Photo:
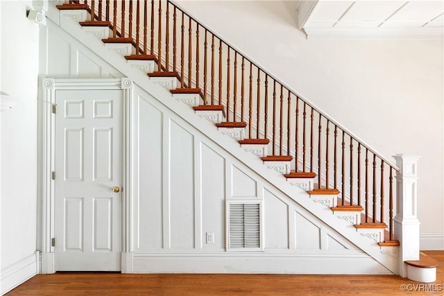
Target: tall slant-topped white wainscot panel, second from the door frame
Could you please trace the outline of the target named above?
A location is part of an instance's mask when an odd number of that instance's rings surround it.
[[[194,248],[194,136],[169,121],[171,248]],[[165,159],[167,161],[167,159]]]

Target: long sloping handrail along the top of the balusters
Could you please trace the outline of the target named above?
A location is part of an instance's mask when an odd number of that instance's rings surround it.
[[[203,28],[207,28],[207,26],[205,26],[203,24],[202,21],[198,21],[198,19],[196,17],[191,17],[191,15],[189,14],[189,12],[187,12],[187,10],[185,10],[184,8],[182,8],[179,4],[177,0],[167,0],[168,2],[172,3],[173,6],[176,6],[180,11],[184,12],[186,15],[188,15],[192,20],[196,21],[197,24],[199,24],[200,26],[203,26]],[[336,121],[335,119],[333,119],[331,116],[327,115],[327,112],[324,112],[320,107],[316,106],[314,103],[312,103],[311,101],[309,101],[308,98],[306,98],[305,96],[301,95],[300,93],[296,92],[295,89],[293,89],[291,86],[289,86],[287,84],[287,82],[282,82],[282,80],[279,80],[278,78],[276,78],[275,76],[273,76],[273,74],[271,74],[271,71],[268,71],[268,69],[266,69],[265,67],[261,67],[259,66],[259,63],[256,62],[253,58],[250,57],[250,55],[241,52],[237,46],[234,46],[232,43],[228,42],[226,38],[221,37],[220,35],[218,35],[217,33],[214,33],[214,31],[212,31],[211,29],[207,28],[207,31],[212,33],[212,35],[218,37],[220,40],[222,40],[223,43],[225,43],[227,46],[229,46],[231,49],[234,49],[234,51],[237,51],[237,53],[239,53],[240,55],[244,56],[249,62],[251,62],[252,64],[255,65],[255,67],[261,69],[264,73],[266,73],[268,75],[268,77],[273,78],[273,80],[278,81],[281,85],[283,85],[285,88],[289,89],[295,96],[297,96],[298,98],[302,99],[302,101],[304,101],[305,103],[307,103],[307,105],[309,105],[309,107],[313,108],[314,110],[316,110],[316,112],[321,113],[323,115],[323,117],[325,117],[325,119],[328,119],[331,123],[333,123],[334,125],[337,125],[339,128],[341,128],[341,130],[343,130],[346,134],[348,134],[350,137],[352,137],[353,139],[355,139],[355,141],[358,141],[359,143],[361,143],[361,145],[365,146],[366,148],[368,148],[368,150],[370,150],[373,154],[377,155],[377,157],[379,157],[380,159],[384,160],[384,162],[386,162],[386,164],[390,165],[392,168],[395,168],[396,171],[399,171],[400,169],[398,168],[398,166],[396,166],[396,164],[387,159],[386,157],[384,157],[384,155],[382,155],[382,153],[379,153],[375,148],[371,147],[368,143],[366,143],[366,141],[364,141],[363,139],[357,137],[357,135],[355,133],[353,133],[352,131],[350,131],[348,128],[345,128],[345,126],[341,125],[341,123],[339,123],[338,121]]]

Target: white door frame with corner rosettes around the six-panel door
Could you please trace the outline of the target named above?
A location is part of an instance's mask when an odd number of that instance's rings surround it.
[[[42,184],[42,273],[54,273],[54,156],[55,156],[55,113],[57,89],[121,89],[122,90],[122,199],[121,199],[121,272],[133,272],[133,247],[131,244],[131,126],[130,114],[132,110],[133,82],[128,78],[94,78],[94,79],[54,79],[43,78],[43,106],[42,106],[42,143],[41,166]]]

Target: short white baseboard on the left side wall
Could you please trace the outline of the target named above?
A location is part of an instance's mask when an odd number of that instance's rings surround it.
[[[38,252],[12,263],[0,270],[0,293],[4,295],[13,288],[37,275]]]

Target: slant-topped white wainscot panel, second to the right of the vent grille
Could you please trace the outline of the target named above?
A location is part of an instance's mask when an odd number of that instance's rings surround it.
[[[321,229],[296,211],[296,249],[321,250]]]

